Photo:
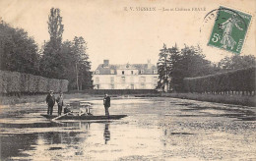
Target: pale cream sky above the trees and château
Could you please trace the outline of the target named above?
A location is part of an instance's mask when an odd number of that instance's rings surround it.
[[[40,47],[49,40],[49,11],[59,8],[63,40],[83,36],[94,71],[104,59],[110,64],[156,64],[163,43],[179,48],[199,44],[213,62],[233,55],[207,45],[215,21],[205,23],[204,18],[220,6],[252,15],[241,55],[256,55],[255,0],[0,0],[0,17],[24,28]],[[146,8],[152,11],[141,11]]]

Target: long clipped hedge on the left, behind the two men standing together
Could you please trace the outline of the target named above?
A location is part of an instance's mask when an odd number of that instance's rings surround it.
[[[31,74],[0,71],[0,93],[45,93],[68,91],[68,80],[47,79]]]

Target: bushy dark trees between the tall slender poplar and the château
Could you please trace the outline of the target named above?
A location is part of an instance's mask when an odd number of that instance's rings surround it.
[[[83,37],[64,41],[61,47],[61,67],[63,78],[69,80],[70,89],[92,88],[91,62],[87,53],[87,42]]]

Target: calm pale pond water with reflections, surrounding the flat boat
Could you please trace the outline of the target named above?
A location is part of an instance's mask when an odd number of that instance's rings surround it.
[[[104,114],[102,100],[89,102],[94,115]],[[256,160],[253,107],[113,98],[109,111],[128,117],[51,122],[40,116],[44,103],[3,108],[1,160]]]

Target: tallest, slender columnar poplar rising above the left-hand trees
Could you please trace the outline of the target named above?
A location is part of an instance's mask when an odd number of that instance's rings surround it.
[[[63,79],[60,76],[63,67],[61,66],[61,44],[64,26],[60,10],[51,8],[48,17],[48,32],[50,40],[45,43],[43,55],[40,61],[41,75],[48,78]]]

